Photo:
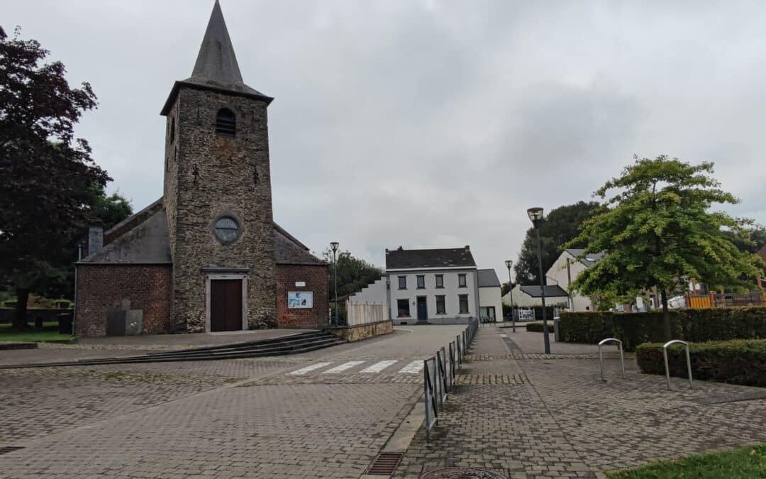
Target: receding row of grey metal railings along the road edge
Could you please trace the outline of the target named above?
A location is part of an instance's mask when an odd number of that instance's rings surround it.
[[[444,411],[447,392],[456,384],[457,372],[466,360],[466,354],[476,331],[479,320],[471,320],[462,333],[450,341],[448,346],[450,363],[447,366],[447,349],[441,346],[434,356],[423,360],[423,400],[426,408],[426,441],[430,441],[430,431],[439,422],[439,411]]]

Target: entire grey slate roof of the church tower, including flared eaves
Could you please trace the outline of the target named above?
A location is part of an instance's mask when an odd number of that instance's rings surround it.
[[[245,97],[254,97],[271,103],[273,98],[267,97],[260,91],[244,84],[242,74],[237,63],[237,55],[234,54],[234,46],[229,38],[224,14],[218,0],[213,5],[210,14],[208,28],[202,38],[202,44],[197,54],[197,61],[191,77],[186,80],[176,81],[170,92],[165,106],[162,107],[162,115],[168,114],[173,105],[178,88],[182,85],[205,90],[217,90],[225,93],[233,93]]]

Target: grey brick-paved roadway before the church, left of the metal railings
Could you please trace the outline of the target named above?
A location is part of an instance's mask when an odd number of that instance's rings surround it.
[[[2,370],[0,447],[24,449],[0,455],[0,477],[359,477],[421,395],[413,363],[464,327],[296,356]]]

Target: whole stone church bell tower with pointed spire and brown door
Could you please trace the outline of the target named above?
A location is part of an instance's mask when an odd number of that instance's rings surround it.
[[[175,330],[277,324],[267,107],[244,84],[216,0],[191,77],[162,115]]]

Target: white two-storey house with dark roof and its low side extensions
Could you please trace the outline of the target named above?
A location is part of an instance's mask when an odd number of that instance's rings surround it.
[[[417,250],[400,246],[387,249],[385,258],[385,276],[349,297],[350,303],[385,303],[394,324],[467,323],[480,311],[487,317],[502,317],[500,282],[494,271],[494,278],[479,274],[469,246]]]

